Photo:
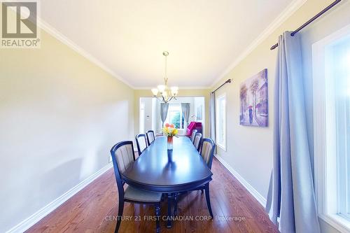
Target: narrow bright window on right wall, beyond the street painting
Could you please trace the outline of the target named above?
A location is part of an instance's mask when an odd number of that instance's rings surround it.
[[[226,150],[226,94],[216,98],[216,144]]]

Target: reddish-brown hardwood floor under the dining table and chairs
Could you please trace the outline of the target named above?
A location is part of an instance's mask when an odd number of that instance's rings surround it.
[[[180,197],[179,220],[170,229],[163,219],[167,203],[162,203],[161,232],[278,232],[262,206],[215,157],[211,170],[214,220],[202,219],[209,218],[204,193],[190,192]],[[118,191],[110,169],[27,232],[114,232],[117,212]],[[125,203],[120,232],[155,232],[155,221],[146,219],[154,215],[153,206]]]

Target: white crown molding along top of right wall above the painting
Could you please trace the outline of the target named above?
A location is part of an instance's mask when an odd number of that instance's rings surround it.
[[[241,54],[237,57],[237,59],[235,59],[219,76],[218,78],[216,78],[214,80],[213,83],[211,83],[211,89],[213,89],[216,85],[216,83],[218,83],[221,79],[223,79],[230,71],[232,71],[232,69],[234,69],[244,58],[246,58],[251,52],[253,52],[253,50],[258,47],[258,45],[260,45],[260,43],[262,43],[262,41],[265,41],[265,39],[272,34],[276,29],[279,28],[279,26],[281,26],[281,24],[283,24],[283,22],[285,22],[288,17],[290,17],[291,15],[293,15],[293,13],[295,13],[295,11],[297,11],[302,5],[304,5],[304,3],[307,0],[294,0],[292,1],[282,12],[281,14],[279,14],[279,16],[276,17],[276,19],[274,21],[272,21],[271,24],[269,24],[269,26],[267,26],[267,28],[262,31],[262,33],[260,34],[260,36],[258,36],[258,38],[256,38],[253,43],[251,43],[250,45],[248,45],[248,47],[246,48],[246,50],[244,50],[244,52],[241,52]]]

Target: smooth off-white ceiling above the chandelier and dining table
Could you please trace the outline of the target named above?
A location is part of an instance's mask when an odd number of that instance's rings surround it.
[[[45,0],[41,20],[134,88],[210,87],[291,0]]]

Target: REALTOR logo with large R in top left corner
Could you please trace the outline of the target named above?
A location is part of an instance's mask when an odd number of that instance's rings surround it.
[[[1,1],[1,48],[39,48],[36,1]]]

